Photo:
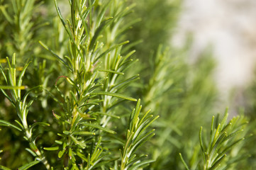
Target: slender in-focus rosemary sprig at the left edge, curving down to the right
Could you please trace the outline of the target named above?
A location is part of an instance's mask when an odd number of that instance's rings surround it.
[[[24,167],[30,167],[33,164],[37,164],[38,162],[43,162],[45,164],[45,167],[47,169],[50,169],[50,165],[48,164],[47,160],[42,154],[42,151],[38,149],[35,145],[35,137],[33,136],[33,128],[36,125],[49,125],[48,123],[33,123],[33,125],[28,125],[27,122],[27,116],[30,106],[33,103],[33,100],[26,101],[28,98],[28,95],[30,94],[30,91],[33,91],[33,89],[38,88],[38,86],[33,87],[24,96],[21,96],[21,90],[26,89],[26,86],[22,86],[22,80],[23,75],[26,72],[26,69],[28,67],[28,64],[26,64],[25,67],[23,67],[23,70],[21,71],[21,74],[18,76],[18,79],[16,79],[16,55],[13,54],[12,62],[9,62],[9,58],[7,57],[7,63],[9,68],[7,69],[6,74],[4,73],[3,67],[0,67],[1,74],[3,75],[6,84],[8,86],[1,86],[1,92],[8,98],[8,100],[11,102],[11,104],[16,108],[16,113],[18,115],[19,120],[15,120],[15,122],[18,124],[13,125],[5,120],[0,120],[0,125],[4,126],[11,126],[12,128],[16,128],[16,130],[23,131],[23,137],[25,140],[29,142],[30,148],[26,148],[28,152],[33,154],[38,160],[34,162],[30,162],[29,164],[26,164],[24,166],[21,166],[21,169],[24,169]],[[9,96],[4,89],[10,89],[11,95]]]

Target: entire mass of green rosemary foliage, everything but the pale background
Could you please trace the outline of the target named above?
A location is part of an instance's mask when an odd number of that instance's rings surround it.
[[[0,169],[256,167],[211,52],[169,44],[181,1],[0,3]]]

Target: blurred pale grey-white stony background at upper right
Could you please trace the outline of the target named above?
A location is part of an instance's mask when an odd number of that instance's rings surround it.
[[[256,65],[256,1],[184,0],[182,10],[172,42],[182,45],[187,33],[192,33],[191,58],[211,45],[223,101],[227,106],[239,101]],[[232,89],[235,91],[230,99]]]

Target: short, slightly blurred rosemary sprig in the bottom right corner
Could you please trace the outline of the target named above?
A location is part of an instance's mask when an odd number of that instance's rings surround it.
[[[214,116],[211,120],[211,131],[206,144],[206,138],[202,135],[203,128],[200,128],[199,142],[201,147],[201,153],[203,160],[194,160],[194,166],[196,169],[233,169],[238,160],[245,159],[244,154],[236,155],[232,152],[238,152],[233,150],[235,145],[245,140],[245,134],[243,129],[247,124],[246,118],[235,117],[226,124],[228,113],[226,112],[221,123],[218,120],[214,120]],[[182,162],[186,169],[190,169],[184,162],[182,154],[180,154]],[[193,168],[195,169],[195,168]]]

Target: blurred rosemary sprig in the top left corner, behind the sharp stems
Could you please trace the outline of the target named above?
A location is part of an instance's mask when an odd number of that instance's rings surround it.
[[[18,62],[27,60],[28,55],[33,55],[36,41],[36,31],[45,23],[38,23],[40,13],[35,13],[41,3],[35,0],[11,0],[9,3],[1,1],[0,11],[4,18],[3,26],[6,27],[5,42],[2,45],[3,55],[11,56],[16,52]],[[11,36],[9,36],[11,35]]]

